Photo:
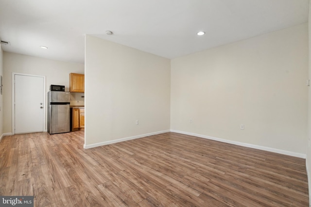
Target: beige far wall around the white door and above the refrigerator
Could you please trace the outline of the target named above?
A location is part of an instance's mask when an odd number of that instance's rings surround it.
[[[3,70],[5,97],[3,102],[5,109],[3,132],[12,133],[12,73],[46,76],[46,92],[50,90],[51,84],[65,85],[66,91],[69,91],[69,73],[84,74],[84,64],[66,63],[4,52]]]

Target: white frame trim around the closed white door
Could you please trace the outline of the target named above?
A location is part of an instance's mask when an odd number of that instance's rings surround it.
[[[12,73],[12,135],[15,135],[15,75],[20,76],[31,76],[31,77],[40,77],[43,78],[43,131],[47,131],[46,129],[46,76],[32,75],[32,74],[24,74],[24,73]]]

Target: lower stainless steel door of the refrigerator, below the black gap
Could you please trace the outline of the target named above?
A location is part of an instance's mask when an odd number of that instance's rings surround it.
[[[59,92],[58,92],[59,93]],[[70,106],[50,105],[49,133],[63,133],[70,131]]]

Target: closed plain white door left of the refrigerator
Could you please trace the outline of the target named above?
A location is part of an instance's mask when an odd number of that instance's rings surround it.
[[[13,74],[15,134],[42,132],[45,125],[45,78]]]

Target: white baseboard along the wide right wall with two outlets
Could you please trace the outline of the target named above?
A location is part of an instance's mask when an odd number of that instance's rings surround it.
[[[255,145],[255,144],[241,143],[241,142],[236,142],[236,141],[231,141],[231,140],[225,140],[225,139],[210,137],[210,136],[206,136],[206,135],[202,135],[202,134],[186,132],[186,131],[178,131],[178,130],[171,129],[171,132],[176,132],[176,133],[180,133],[180,134],[187,134],[187,135],[191,135],[191,136],[195,136],[195,137],[201,137],[201,138],[205,138],[205,139],[209,139],[209,140],[215,140],[215,141],[219,141],[222,143],[230,143],[230,144],[235,144],[235,145],[240,145],[240,146],[246,146],[246,147],[250,147],[250,148],[254,148],[254,149],[260,149],[260,150],[265,150],[265,151],[269,151],[269,152],[275,152],[275,153],[279,153],[279,154],[283,154],[283,155],[289,155],[289,156],[298,157],[298,158],[306,159],[306,157],[307,157],[306,154],[302,154],[302,153],[296,153],[296,152],[286,151],[286,150],[282,150],[282,149],[275,149],[275,148],[260,146],[260,145]]]

